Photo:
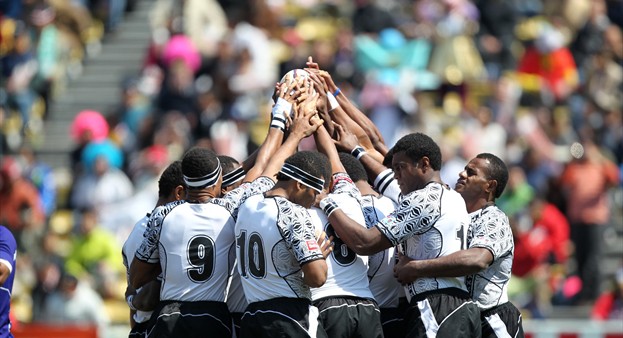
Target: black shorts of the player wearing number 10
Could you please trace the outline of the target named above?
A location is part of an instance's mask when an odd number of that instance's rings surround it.
[[[242,314],[240,337],[326,338],[318,309],[304,298],[273,298],[254,302]]]

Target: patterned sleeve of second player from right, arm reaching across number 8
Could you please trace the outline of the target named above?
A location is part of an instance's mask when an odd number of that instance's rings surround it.
[[[376,224],[392,245],[398,245],[408,238],[425,233],[441,217],[440,184],[429,184],[404,196],[396,211]]]

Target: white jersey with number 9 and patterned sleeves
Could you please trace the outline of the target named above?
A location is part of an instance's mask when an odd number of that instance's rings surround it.
[[[225,301],[238,206],[273,185],[260,177],[207,203],[176,201],[155,209],[136,257],[160,262],[161,301]]]

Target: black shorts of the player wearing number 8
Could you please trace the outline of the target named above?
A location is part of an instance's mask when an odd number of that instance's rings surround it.
[[[327,297],[314,301],[320,322],[331,338],[383,337],[381,311],[376,302],[358,297]]]

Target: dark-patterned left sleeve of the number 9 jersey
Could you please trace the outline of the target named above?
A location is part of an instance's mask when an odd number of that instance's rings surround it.
[[[162,223],[171,210],[182,203],[185,203],[185,201],[171,202],[154,209],[151,216],[149,216],[149,221],[147,221],[147,229],[145,229],[145,233],[143,234],[143,242],[136,250],[135,257],[138,260],[152,264],[160,261],[158,242],[160,241]]]

